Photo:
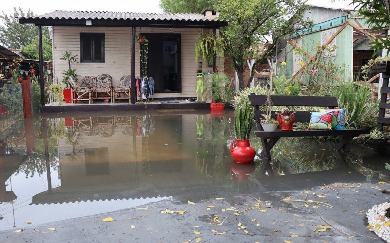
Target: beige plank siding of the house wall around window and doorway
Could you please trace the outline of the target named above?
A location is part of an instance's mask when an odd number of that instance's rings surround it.
[[[195,42],[202,29],[193,28],[136,28],[139,33],[180,33],[181,34],[181,93],[159,93],[155,98],[191,97],[196,96],[196,70],[199,64],[195,61]],[[203,29],[203,32],[213,30]],[[97,76],[109,74],[113,77],[113,85],[118,85],[124,75],[131,72],[131,27],[53,27],[53,72],[54,79],[60,81],[61,73],[67,69],[65,61],[61,60],[65,51],[78,54],[80,57],[80,32],[105,33],[105,62],[104,63],[75,63],[72,68],[77,69],[78,75]],[[219,35],[219,31],[217,32]],[[135,75],[140,75],[139,44],[136,43]],[[224,58],[218,57],[217,64],[220,72],[224,71]],[[212,68],[203,64],[203,71]]]

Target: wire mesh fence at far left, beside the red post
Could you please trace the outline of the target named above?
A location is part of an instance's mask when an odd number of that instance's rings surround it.
[[[0,88],[0,135],[7,135],[13,125],[23,119],[21,84],[5,84]]]

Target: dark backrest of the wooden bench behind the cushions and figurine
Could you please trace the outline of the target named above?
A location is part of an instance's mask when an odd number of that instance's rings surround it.
[[[256,117],[256,123],[261,129],[260,119],[263,111],[260,106],[264,104],[267,96],[265,95],[248,95],[251,104],[254,106],[254,115]],[[337,98],[331,96],[289,96],[289,95],[271,95],[271,100],[274,106],[286,106],[290,107],[290,111],[294,111],[291,107],[326,107],[328,109],[334,109],[338,106]],[[280,112],[280,111],[278,111]],[[276,119],[275,112],[272,112],[272,118]],[[309,111],[297,111],[295,113],[295,122],[309,122],[310,112]]]

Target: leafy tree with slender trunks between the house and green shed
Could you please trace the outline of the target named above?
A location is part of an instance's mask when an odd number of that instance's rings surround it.
[[[225,55],[233,59],[240,89],[244,88],[244,70],[247,58],[257,61],[253,67],[270,54],[279,38],[312,25],[303,19],[306,0],[222,0],[220,17],[228,19],[227,27],[221,29],[225,40]],[[275,33],[273,41],[270,36]],[[264,50],[258,47],[264,46]],[[251,71],[253,77],[254,68]],[[248,86],[250,82],[248,82]]]

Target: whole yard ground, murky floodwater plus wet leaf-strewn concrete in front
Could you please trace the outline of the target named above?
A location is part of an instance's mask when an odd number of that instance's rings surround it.
[[[133,114],[46,114],[1,134],[0,239],[376,241],[362,210],[387,200],[374,188],[389,187],[388,156],[352,145],[345,166],[332,141],[281,139],[263,172],[232,162],[231,111]]]

